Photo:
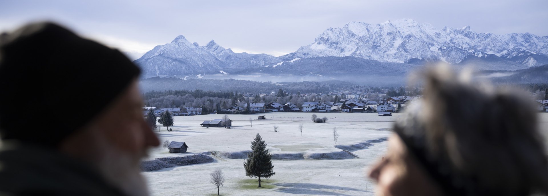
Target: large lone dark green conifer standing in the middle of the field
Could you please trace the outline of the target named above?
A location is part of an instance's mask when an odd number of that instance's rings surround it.
[[[272,155],[269,154],[266,149],[266,143],[262,140],[259,133],[255,136],[255,140],[251,142],[252,152],[247,154],[247,160],[243,163],[244,169],[246,169],[246,176],[258,177],[259,186],[261,187],[261,178],[270,178],[275,175],[273,172],[274,166],[272,165]]]

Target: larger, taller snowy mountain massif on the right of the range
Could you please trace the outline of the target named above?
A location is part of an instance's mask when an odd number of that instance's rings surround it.
[[[512,48],[548,54],[548,36],[476,33],[470,26],[438,30],[428,23],[421,24],[412,19],[386,21],[383,24],[351,22],[342,28],[327,29],[313,43],[280,58],[350,56],[395,63],[406,63],[412,59],[439,59],[458,64],[470,56],[495,54],[500,57]],[[533,60],[518,63],[523,67],[542,64],[535,64]],[[505,69],[504,65],[501,66]]]

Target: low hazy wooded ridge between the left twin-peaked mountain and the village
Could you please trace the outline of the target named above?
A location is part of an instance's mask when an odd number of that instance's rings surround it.
[[[175,77],[151,77],[139,81],[142,92],[167,91],[167,90],[195,90],[222,91],[222,92],[278,92],[283,88],[287,92],[319,93],[330,92],[340,88],[358,87],[345,81],[324,81],[324,82],[256,82],[248,80],[210,80],[210,79],[187,79],[182,80]]]

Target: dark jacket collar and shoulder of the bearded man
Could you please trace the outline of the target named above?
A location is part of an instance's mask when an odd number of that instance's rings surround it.
[[[123,195],[98,170],[39,145],[0,150],[0,195]]]

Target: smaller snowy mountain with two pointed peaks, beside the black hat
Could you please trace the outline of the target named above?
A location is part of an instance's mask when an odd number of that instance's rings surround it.
[[[230,48],[219,46],[213,40],[206,46],[199,46],[196,42],[190,43],[181,35],[171,43],[156,46],[134,63],[141,68],[143,77],[152,77],[219,74],[221,70],[226,74],[279,61],[283,60],[267,54],[235,53]]]

